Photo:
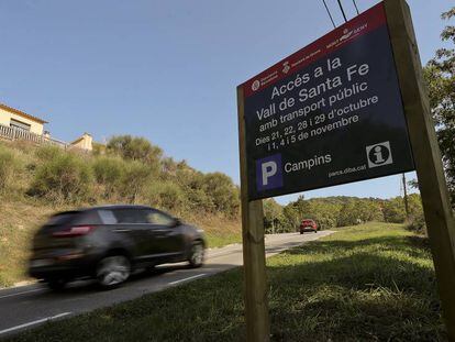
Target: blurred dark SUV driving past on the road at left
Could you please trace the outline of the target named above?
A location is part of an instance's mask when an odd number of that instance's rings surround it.
[[[53,216],[33,239],[29,274],[60,289],[96,278],[102,288],[125,282],[137,268],[164,263],[203,264],[203,232],[145,206],[103,206]]]

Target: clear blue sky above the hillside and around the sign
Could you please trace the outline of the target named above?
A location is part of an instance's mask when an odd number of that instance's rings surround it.
[[[341,24],[336,1],[326,2]],[[377,2],[357,0],[360,11]],[[426,62],[453,2],[409,3]],[[235,87],[332,30],[315,0],[3,0],[0,26],[0,102],[49,121],[55,137],[141,135],[235,183]],[[336,195],[398,196],[399,177],[304,194]]]

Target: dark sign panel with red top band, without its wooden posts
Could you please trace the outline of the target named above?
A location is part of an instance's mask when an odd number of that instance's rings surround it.
[[[414,169],[381,3],[242,86],[249,199]]]

